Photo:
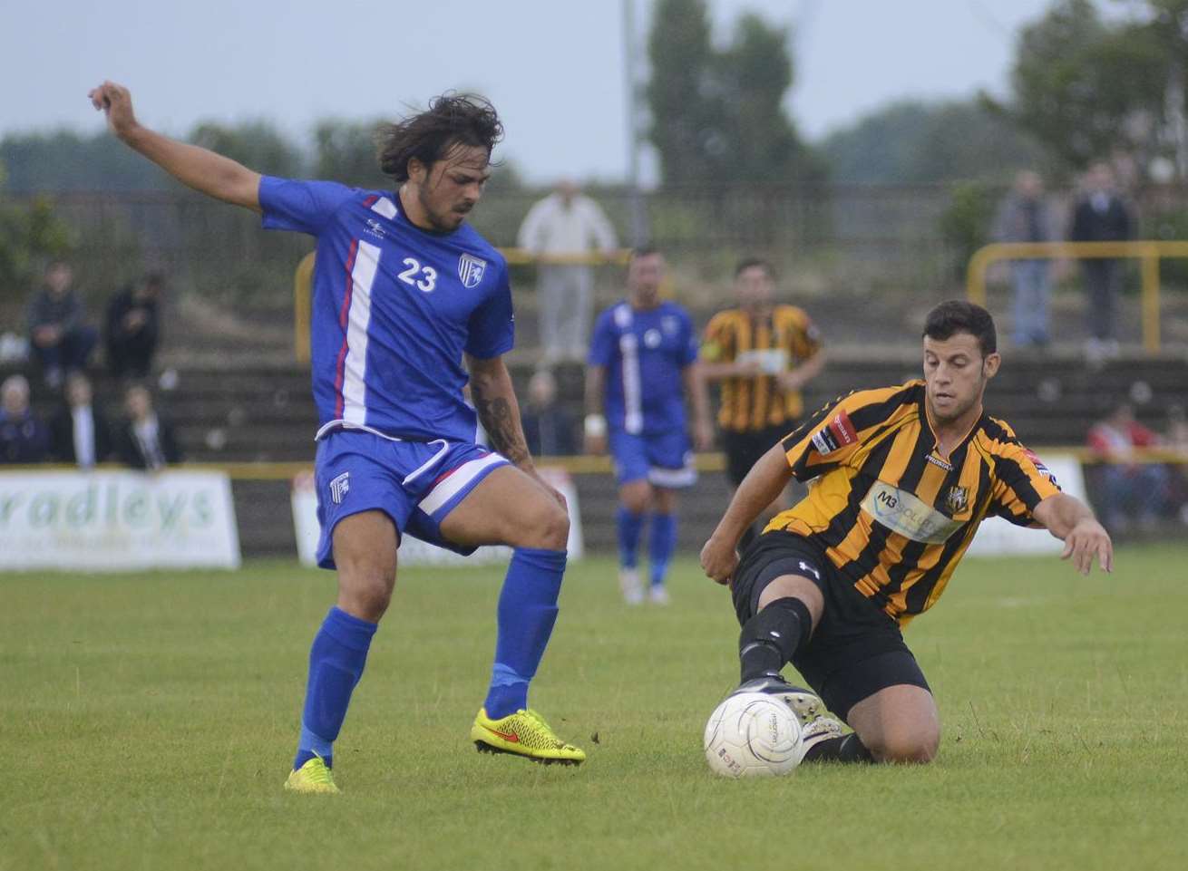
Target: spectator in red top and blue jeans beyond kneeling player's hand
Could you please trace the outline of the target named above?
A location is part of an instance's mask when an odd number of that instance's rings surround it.
[[[1088,443],[1104,460],[1099,479],[1106,528],[1123,530],[1132,516],[1140,526],[1154,526],[1168,494],[1168,468],[1138,462],[1135,449],[1155,447],[1159,437],[1139,424],[1135,409],[1123,402],[1089,427]]]

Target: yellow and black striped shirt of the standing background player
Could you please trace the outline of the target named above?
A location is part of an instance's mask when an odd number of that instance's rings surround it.
[[[796,421],[804,413],[798,390],[781,390],[775,374],[794,369],[821,348],[816,328],[803,310],[777,305],[752,318],[741,309],[719,312],[706,326],[701,358],[731,363],[753,355],[764,375],[722,380],[718,422],[723,430],[751,432]]]

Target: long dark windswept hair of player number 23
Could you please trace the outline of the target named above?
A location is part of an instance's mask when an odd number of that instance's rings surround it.
[[[431,166],[453,148],[479,146],[491,157],[504,138],[495,107],[478,94],[442,94],[429,108],[403,121],[380,127],[379,169],[397,183],[409,180],[409,161],[417,158]]]

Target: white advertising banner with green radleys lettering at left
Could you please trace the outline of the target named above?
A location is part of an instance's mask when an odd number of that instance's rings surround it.
[[[0,471],[0,571],[239,565],[223,472]]]

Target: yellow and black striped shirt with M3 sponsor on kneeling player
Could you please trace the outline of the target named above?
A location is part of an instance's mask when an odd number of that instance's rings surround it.
[[[1060,488],[1005,422],[986,414],[942,456],[924,382],[858,390],[783,441],[809,495],[767,530],[814,540],[838,572],[906,625],[944,591],[984,517],[1035,526]]]

